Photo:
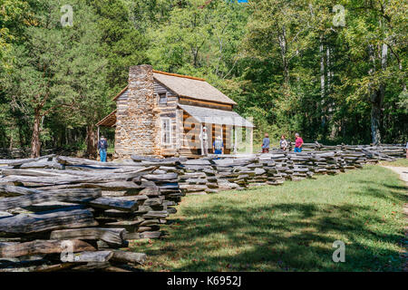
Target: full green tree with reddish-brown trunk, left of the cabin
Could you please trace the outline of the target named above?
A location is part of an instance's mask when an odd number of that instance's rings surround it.
[[[98,79],[89,64],[104,64],[95,51],[99,38],[92,10],[81,0],[72,3],[77,19],[73,27],[60,22],[62,1],[47,0],[35,6],[36,24],[25,29],[26,42],[15,47],[12,73],[3,76],[11,102],[31,117],[32,157],[40,155],[44,118],[62,109],[74,110],[84,96],[94,95]],[[81,83],[83,78],[87,81]]]

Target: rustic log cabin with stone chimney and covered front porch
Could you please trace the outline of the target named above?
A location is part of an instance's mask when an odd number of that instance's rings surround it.
[[[128,85],[113,101],[116,110],[97,126],[98,131],[101,126],[115,129],[114,158],[199,157],[204,126],[209,153],[218,136],[224,154],[236,153],[242,130],[252,152],[253,124],[233,111],[236,102],[204,79],[155,71],[147,64],[131,66]]]

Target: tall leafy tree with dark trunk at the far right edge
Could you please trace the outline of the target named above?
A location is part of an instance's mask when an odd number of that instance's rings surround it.
[[[365,67],[365,73],[349,83],[355,87],[356,95],[368,96],[373,143],[384,140],[381,133],[384,131],[384,103],[391,101],[393,94],[405,90],[403,62],[406,55],[401,52],[406,49],[403,41],[406,36],[401,32],[406,30],[407,24],[403,7],[407,4],[400,0],[352,1],[349,7],[345,40],[350,53],[361,57],[361,63],[349,65]],[[393,72],[398,72],[396,77]]]

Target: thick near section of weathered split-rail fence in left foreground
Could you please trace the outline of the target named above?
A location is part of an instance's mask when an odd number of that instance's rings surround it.
[[[176,212],[178,173],[161,166],[170,163],[0,160],[0,272],[135,269],[146,255],[119,248],[160,237]]]

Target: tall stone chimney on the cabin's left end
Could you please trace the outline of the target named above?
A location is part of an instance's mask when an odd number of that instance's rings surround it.
[[[160,155],[160,124],[154,97],[153,68],[142,64],[129,69],[129,95],[119,98],[116,111],[115,155]]]

